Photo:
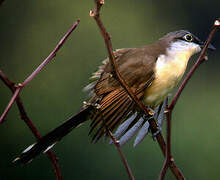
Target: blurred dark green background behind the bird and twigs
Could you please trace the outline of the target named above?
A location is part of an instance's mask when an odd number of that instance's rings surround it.
[[[106,0],[102,17],[114,49],[138,47],[170,31],[188,29],[205,40],[219,13],[220,1]],[[89,10],[92,0],[5,0],[0,7],[0,69],[13,82],[22,82],[80,18],[56,58],[25,87],[21,97],[28,115],[42,134],[53,129],[82,105],[82,88],[107,56],[103,39]],[[220,33],[213,44],[220,48]],[[191,58],[192,66],[196,56]],[[211,53],[184,90],[172,120],[172,152],[187,179],[219,177],[220,111],[219,50]],[[0,82],[0,112],[11,93]],[[114,146],[91,144],[89,123],[75,129],[53,151],[64,179],[127,179]],[[165,130],[165,128],[164,128]],[[11,161],[35,138],[14,105],[0,125],[0,180],[55,179],[51,163],[41,155],[24,166]],[[133,140],[122,150],[138,180],[157,179],[163,156],[148,136],[137,148]],[[166,179],[175,179],[169,172]]]

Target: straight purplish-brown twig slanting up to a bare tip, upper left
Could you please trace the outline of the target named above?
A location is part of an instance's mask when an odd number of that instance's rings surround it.
[[[11,109],[11,106],[15,102],[17,96],[20,94],[22,88],[24,88],[55,56],[58,50],[63,46],[66,39],[69,37],[69,35],[73,32],[73,30],[78,26],[79,19],[71,26],[71,28],[68,30],[68,32],[64,35],[64,37],[60,40],[60,42],[57,44],[57,46],[54,48],[54,50],[50,53],[50,55],[34,70],[33,73],[31,73],[30,76],[28,76],[23,83],[18,84],[16,87],[16,91],[14,92],[11,100],[9,101],[7,107],[5,108],[4,112],[2,113],[0,117],[0,123],[4,122],[4,119],[8,113],[8,111]]]

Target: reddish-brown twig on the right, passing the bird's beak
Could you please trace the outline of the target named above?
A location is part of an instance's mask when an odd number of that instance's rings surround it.
[[[167,172],[168,166],[170,163],[172,163],[173,158],[171,155],[171,120],[172,120],[172,112],[173,109],[176,105],[176,102],[178,101],[183,89],[185,88],[187,82],[190,80],[190,78],[192,77],[193,73],[198,69],[198,67],[204,62],[206,61],[206,51],[208,49],[208,45],[211,42],[214,34],[216,33],[216,31],[218,30],[220,26],[220,19],[216,20],[214,23],[214,26],[211,30],[211,32],[209,33],[209,36],[207,37],[206,43],[204,48],[202,49],[196,63],[193,65],[193,67],[191,68],[191,70],[189,71],[189,73],[187,74],[186,78],[183,80],[182,84],[180,85],[178,91],[176,92],[171,104],[169,105],[167,112],[166,112],[166,116],[167,116],[167,145],[166,145],[166,158],[163,164],[163,167],[161,169],[160,172],[160,176],[159,176],[159,180],[163,180],[165,177],[165,174]]]

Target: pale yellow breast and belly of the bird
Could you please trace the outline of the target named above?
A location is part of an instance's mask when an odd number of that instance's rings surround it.
[[[161,55],[155,66],[155,80],[146,89],[144,104],[154,108],[160,104],[182,78],[191,52]]]

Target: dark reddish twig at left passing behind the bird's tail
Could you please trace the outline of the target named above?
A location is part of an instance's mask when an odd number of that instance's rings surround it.
[[[11,90],[12,93],[15,93],[15,91],[16,91],[15,84],[12,83],[1,70],[0,70],[0,79]],[[39,140],[42,136],[40,135],[37,128],[34,126],[33,122],[28,117],[28,115],[25,111],[24,105],[23,105],[19,95],[16,98],[16,104],[18,106],[21,119],[24,120],[24,122],[29,127],[31,132],[34,134],[35,138]],[[58,164],[56,155],[53,152],[48,151],[47,156],[51,160],[51,163],[53,165],[53,169],[54,169],[54,173],[56,175],[56,179],[57,180],[62,180],[62,174],[61,174],[61,171],[60,171],[60,168],[59,168],[59,164]]]

